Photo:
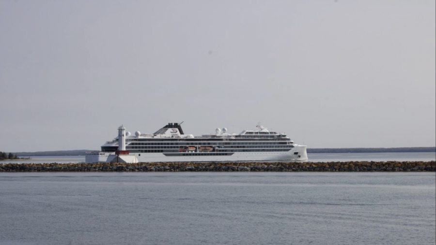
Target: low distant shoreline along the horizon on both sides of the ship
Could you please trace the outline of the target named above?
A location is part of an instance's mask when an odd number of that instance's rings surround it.
[[[85,152],[95,150],[14,152],[18,157],[57,157],[85,156]],[[307,153],[394,153],[394,152],[436,152],[436,147],[396,147],[396,148],[308,148]]]

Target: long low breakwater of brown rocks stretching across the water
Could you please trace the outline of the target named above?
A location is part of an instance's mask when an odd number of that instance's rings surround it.
[[[6,163],[0,172],[424,172],[436,161]]]

